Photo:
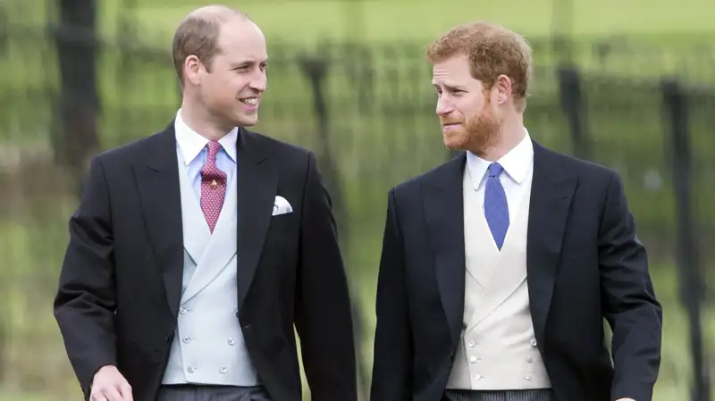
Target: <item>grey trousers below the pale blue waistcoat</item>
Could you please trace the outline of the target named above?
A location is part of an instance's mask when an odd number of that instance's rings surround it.
[[[264,387],[162,386],[156,401],[271,401]]]

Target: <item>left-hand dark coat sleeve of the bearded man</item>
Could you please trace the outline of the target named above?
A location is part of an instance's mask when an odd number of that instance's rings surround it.
[[[414,349],[405,280],[404,244],[392,189],[377,278],[372,401],[412,399]]]

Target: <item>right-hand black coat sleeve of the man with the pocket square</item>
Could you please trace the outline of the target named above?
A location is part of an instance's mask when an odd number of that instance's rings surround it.
[[[311,398],[355,401],[357,355],[348,280],[332,200],[312,153],[302,213],[295,323]]]

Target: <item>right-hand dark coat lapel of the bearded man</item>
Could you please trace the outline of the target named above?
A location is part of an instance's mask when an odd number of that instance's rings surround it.
[[[563,165],[563,157],[534,142],[534,178],[526,234],[526,280],[534,334],[540,347],[543,346],[568,211],[577,184],[576,175]]]

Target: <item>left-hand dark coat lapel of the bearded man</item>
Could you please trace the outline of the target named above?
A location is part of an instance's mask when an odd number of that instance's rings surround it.
[[[462,178],[467,161],[460,154],[425,182],[427,232],[433,246],[437,285],[450,326],[452,345],[462,331],[465,295],[464,199]]]

